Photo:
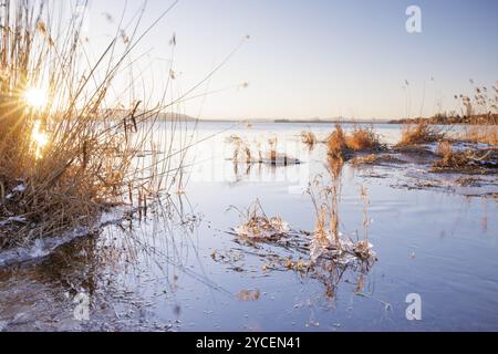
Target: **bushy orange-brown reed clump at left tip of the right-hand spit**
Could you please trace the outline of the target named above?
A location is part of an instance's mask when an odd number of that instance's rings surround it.
[[[382,149],[378,136],[372,128],[355,126],[353,133],[345,134],[338,124],[326,139],[328,153],[332,158],[347,159],[354,153]]]

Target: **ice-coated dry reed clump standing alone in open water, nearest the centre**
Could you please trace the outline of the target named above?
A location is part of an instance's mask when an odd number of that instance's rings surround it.
[[[239,211],[242,225],[230,232],[236,237],[235,241],[242,247],[237,252],[262,260],[261,269],[266,274],[294,271],[302,278],[309,277],[319,281],[325,288],[324,298],[331,301],[335,299],[338,288],[344,282],[355,284],[354,293],[361,293],[376,261],[373,246],[369,242],[370,201],[366,189],[362,187],[362,239],[360,240],[357,230],[354,235],[346,236],[341,232],[343,168],[344,160],[341,157],[329,155],[324,171],[318,174],[309,185],[309,202],[313,206],[311,210],[314,210],[314,215],[310,214],[309,218],[315,218],[313,231],[289,230],[287,223],[286,228],[276,227],[274,220],[280,220],[279,225],[284,221],[279,216],[267,216],[258,200],[251,204],[246,212]],[[247,262],[246,257],[236,256],[234,252],[219,254],[215,251],[212,259],[239,272],[245,271],[243,263]]]

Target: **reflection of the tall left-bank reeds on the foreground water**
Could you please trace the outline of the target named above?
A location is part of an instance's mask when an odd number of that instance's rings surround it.
[[[180,309],[174,294],[181,277],[222,291],[201,266],[191,267],[196,258],[200,261],[193,238],[200,218],[187,212],[185,204],[188,201],[180,196],[175,204],[157,200],[149,205],[147,217],[128,215],[110,222],[101,233],[58,248],[48,258],[1,268],[0,320],[4,330],[37,331],[52,325],[64,331],[173,327]],[[90,299],[90,322],[74,317],[79,294]],[[157,321],[151,310],[157,295],[166,298],[172,308],[168,320]]]

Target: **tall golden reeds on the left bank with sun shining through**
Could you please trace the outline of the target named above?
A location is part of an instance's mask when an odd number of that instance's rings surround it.
[[[91,227],[103,209],[124,204],[125,189],[142,207],[162,179],[134,164],[152,138],[142,127],[162,105],[105,104],[138,23],[122,54],[117,37],[94,64],[82,64],[84,19],[61,27],[49,12],[61,7],[6,0],[0,10],[0,250]]]

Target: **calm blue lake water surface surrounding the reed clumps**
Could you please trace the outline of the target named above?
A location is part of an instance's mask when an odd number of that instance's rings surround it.
[[[497,331],[497,199],[477,196],[478,188],[412,188],[425,176],[416,164],[342,170],[344,236],[363,232],[360,190],[367,189],[369,240],[377,254],[369,269],[324,277],[272,270],[271,254],[307,256],[230,233],[241,222],[235,208],[257,199],[292,229],[314,229],[303,191],[317,176],[329,177],[324,146],[309,150],[301,143],[308,129],[320,139],[332,126],[201,123],[194,137],[201,142],[185,162],[185,194],[163,196],[142,222],[110,226],[43,259],[0,268],[0,331]],[[387,144],[400,138],[396,125],[375,131]],[[302,164],[234,164],[231,135],[255,152],[277,137],[277,149]],[[496,184],[486,190],[497,191]],[[407,320],[409,294],[421,296],[421,321]],[[89,321],[79,321],[86,304]]]

